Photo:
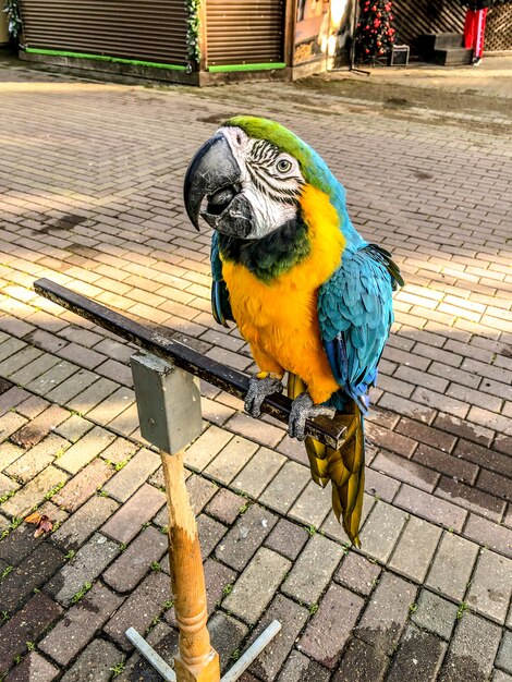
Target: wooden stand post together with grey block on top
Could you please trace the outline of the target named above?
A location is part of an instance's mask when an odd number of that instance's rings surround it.
[[[131,358],[142,435],[160,449],[169,512],[169,565],[180,653],[178,682],[219,682],[219,655],[206,628],[206,586],[197,525],[188,500],[183,448],[202,431],[198,380],[146,353]]]

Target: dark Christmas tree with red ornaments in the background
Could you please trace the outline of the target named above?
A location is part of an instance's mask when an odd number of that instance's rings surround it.
[[[391,0],[361,0],[356,49],[358,60],[375,62],[391,51],[395,40]]]

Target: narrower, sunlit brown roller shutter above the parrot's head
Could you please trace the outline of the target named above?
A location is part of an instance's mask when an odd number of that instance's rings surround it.
[[[207,0],[208,64],[283,62],[284,0]]]

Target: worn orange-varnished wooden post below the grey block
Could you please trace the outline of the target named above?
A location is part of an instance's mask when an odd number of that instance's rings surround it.
[[[206,587],[197,524],[185,486],[183,453],[161,452],[169,512],[169,565],[180,654],[178,682],[218,682],[219,655],[206,628]]]

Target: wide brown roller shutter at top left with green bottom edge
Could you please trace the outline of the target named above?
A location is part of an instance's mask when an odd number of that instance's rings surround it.
[[[25,45],[186,65],[184,0],[21,0]]]

